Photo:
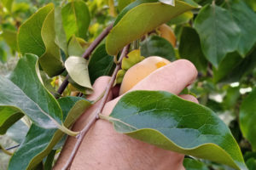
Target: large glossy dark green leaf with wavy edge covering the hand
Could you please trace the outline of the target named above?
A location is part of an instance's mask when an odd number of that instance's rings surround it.
[[[208,108],[176,95],[160,91],[125,94],[107,119],[119,133],[148,144],[247,169],[224,122]]]

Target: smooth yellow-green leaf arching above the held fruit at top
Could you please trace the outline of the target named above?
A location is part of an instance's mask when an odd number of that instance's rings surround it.
[[[175,7],[163,3],[143,3],[131,8],[121,19],[117,18],[119,22],[108,34],[108,54],[118,54],[129,42],[137,40],[148,31],[153,31],[157,26],[192,8],[195,7],[180,1],[176,1]]]

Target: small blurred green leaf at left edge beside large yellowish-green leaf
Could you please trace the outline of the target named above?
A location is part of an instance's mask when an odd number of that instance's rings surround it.
[[[5,42],[7,42],[7,44],[9,45],[9,47],[16,51],[17,50],[17,31],[3,29],[2,36]]]

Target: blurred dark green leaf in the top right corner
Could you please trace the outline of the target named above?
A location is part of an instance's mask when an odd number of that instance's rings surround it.
[[[256,42],[256,37],[252,37],[256,34],[256,20],[252,20],[256,18],[256,14],[252,8],[240,0],[226,1],[225,8],[230,11],[233,20],[241,30],[237,51],[245,57]]]

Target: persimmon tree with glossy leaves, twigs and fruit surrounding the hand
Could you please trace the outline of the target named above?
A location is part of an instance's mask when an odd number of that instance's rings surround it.
[[[99,118],[118,133],[186,155],[186,169],[256,168],[255,1],[43,3],[34,11],[19,1],[1,3],[0,60],[20,56],[14,71],[0,76],[0,133],[18,143],[1,146],[11,155],[9,170],[51,169],[70,135],[77,144],[67,169]],[[150,56],[164,58],[158,68],[189,59],[199,75],[183,94],[201,105],[167,92],[133,91],[103,116],[110,90],[131,83],[125,74],[132,77],[131,67]],[[73,123],[98,101],[86,97],[101,76],[111,77],[101,105],[73,132]]]

